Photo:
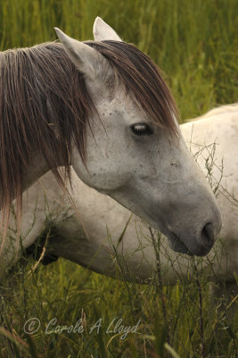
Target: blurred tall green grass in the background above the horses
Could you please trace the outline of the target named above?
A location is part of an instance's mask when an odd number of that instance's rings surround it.
[[[237,11],[237,0],[1,0],[0,48],[53,40],[53,26],[90,39],[101,16],[160,65],[188,118],[237,101]]]

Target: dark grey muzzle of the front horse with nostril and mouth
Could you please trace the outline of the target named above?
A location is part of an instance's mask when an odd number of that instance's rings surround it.
[[[170,205],[164,205],[166,230],[163,234],[167,235],[172,250],[204,256],[209,253],[220,231],[220,210],[209,187],[187,185],[185,190],[186,195],[182,195],[177,204],[171,204],[171,200]],[[194,201],[194,197],[198,199]]]

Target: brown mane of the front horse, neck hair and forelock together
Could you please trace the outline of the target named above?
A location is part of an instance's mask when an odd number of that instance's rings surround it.
[[[86,42],[111,64],[115,75],[152,121],[176,133],[176,104],[147,55],[124,42]],[[0,188],[8,222],[16,198],[20,223],[22,175],[39,151],[59,183],[70,177],[75,142],[86,164],[86,124],[96,109],[83,74],[62,44],[51,42],[0,53]],[[65,167],[65,175],[59,171]],[[6,227],[5,227],[6,229]]]

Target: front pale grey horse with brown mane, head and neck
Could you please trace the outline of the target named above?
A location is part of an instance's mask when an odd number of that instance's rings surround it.
[[[173,250],[207,254],[220,212],[157,67],[100,19],[97,41],[56,32],[62,44],[0,54],[5,221],[16,197],[19,227],[22,190],[50,169],[63,184],[58,166],[69,175],[71,165],[86,185],[166,234]]]

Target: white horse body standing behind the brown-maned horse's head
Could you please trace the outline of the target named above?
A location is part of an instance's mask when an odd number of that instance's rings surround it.
[[[219,107],[207,115],[180,125],[189,149],[216,191],[222,212],[220,242],[208,257],[199,261],[200,269],[210,269],[211,279],[235,283],[238,274],[238,104]],[[21,235],[23,246],[34,243],[45,227],[53,227],[45,256],[63,257],[104,275],[117,277],[117,260],[125,264],[124,276],[148,282],[157,269],[157,250],[150,228],[110,197],[89,188],[72,173],[70,194],[63,196],[51,173],[24,193]],[[12,221],[12,226],[14,222]],[[12,230],[13,232],[13,230]],[[14,238],[12,237],[12,240]],[[10,243],[10,242],[9,242]],[[21,248],[16,249],[17,254]],[[157,244],[157,243],[156,243]],[[12,252],[13,244],[9,244]],[[116,249],[116,252],[115,252]],[[161,281],[175,284],[186,279],[192,266],[185,255],[168,247],[160,237]],[[12,258],[17,258],[16,251]],[[115,255],[116,253],[116,255]],[[9,263],[8,263],[9,265]]]

